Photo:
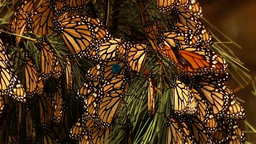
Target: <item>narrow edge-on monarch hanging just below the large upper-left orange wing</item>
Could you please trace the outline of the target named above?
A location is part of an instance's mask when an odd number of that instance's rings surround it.
[[[73,69],[70,54],[66,56],[66,87],[67,92],[70,94],[73,88]]]

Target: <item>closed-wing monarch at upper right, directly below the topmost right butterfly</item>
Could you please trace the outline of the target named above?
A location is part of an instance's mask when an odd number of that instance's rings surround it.
[[[174,26],[172,26],[172,31],[197,34],[202,38],[206,45],[213,44],[213,39],[210,32],[193,15],[187,13],[187,11],[182,8],[174,9],[172,13],[176,15],[176,19],[173,22]]]

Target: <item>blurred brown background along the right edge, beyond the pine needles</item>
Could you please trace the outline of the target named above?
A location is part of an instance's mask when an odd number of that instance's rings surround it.
[[[242,49],[233,44],[227,46],[235,53],[235,55],[248,68],[252,80],[255,81],[256,76],[256,1],[247,0],[208,0],[199,1],[203,10],[203,17],[212,23],[219,31],[235,41]],[[211,28],[210,28],[211,29]],[[215,33],[217,37],[222,37],[220,33]],[[222,39],[228,41],[227,39]],[[245,107],[247,113],[246,121],[253,128],[256,128],[256,97],[252,94],[254,91],[252,82],[244,83],[241,88],[237,83],[231,82],[229,85],[236,89],[236,97],[245,101],[241,103]],[[242,125],[244,123],[241,123]],[[245,126],[245,125],[244,125]],[[249,143],[256,143],[256,133],[252,133],[252,129],[243,128],[246,133],[246,140]],[[249,130],[249,131],[248,131]]]

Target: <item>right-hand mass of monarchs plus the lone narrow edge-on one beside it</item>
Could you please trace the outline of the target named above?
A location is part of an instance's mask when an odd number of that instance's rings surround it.
[[[154,51],[177,67],[172,85],[172,110],[167,117],[166,143],[245,143],[237,121],[245,110],[226,85],[231,79],[225,59],[208,47],[210,32],[201,23],[195,0],[158,0],[160,13],[173,15],[165,32],[153,21],[144,28]],[[148,101],[155,101],[153,73],[148,75]],[[151,75],[151,76],[150,76]],[[154,106],[148,105],[149,112]]]

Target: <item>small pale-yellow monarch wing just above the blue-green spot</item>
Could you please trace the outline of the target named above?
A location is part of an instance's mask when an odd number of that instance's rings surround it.
[[[94,49],[91,49],[86,58],[96,62],[101,62],[108,58],[117,58],[116,51],[120,43],[121,39],[110,39],[106,43],[97,45]]]

